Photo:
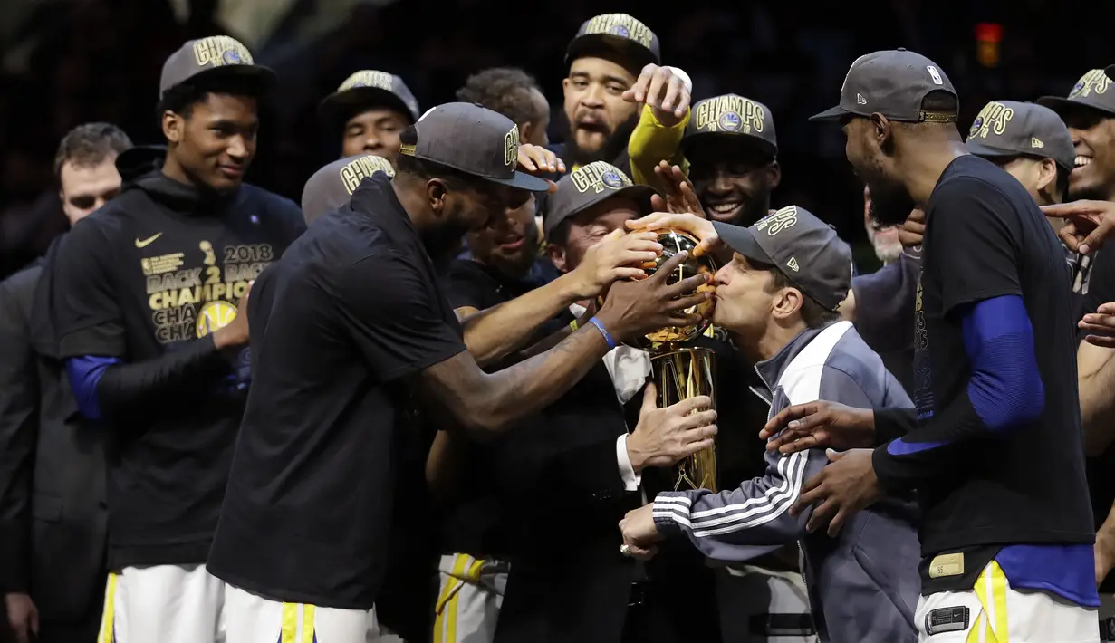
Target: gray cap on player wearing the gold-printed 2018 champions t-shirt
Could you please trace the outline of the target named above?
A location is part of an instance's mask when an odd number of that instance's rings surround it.
[[[235,38],[210,36],[186,42],[163,62],[158,97],[186,80],[219,77],[237,78],[252,94],[262,94],[278,79],[271,69],[255,65],[251,51]]]

